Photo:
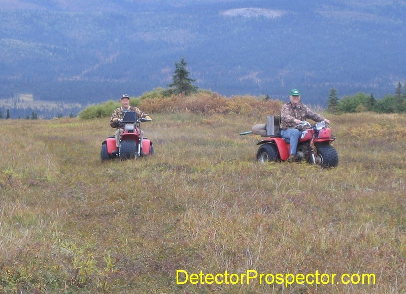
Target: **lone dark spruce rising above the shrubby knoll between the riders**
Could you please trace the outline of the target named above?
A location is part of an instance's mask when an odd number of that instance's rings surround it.
[[[197,91],[198,87],[194,86],[192,83],[196,80],[189,78],[189,71],[186,69],[187,63],[185,59],[182,58],[180,63],[175,62],[175,73],[172,76],[172,84],[167,85],[170,87],[170,91],[173,94],[184,93],[186,96]]]

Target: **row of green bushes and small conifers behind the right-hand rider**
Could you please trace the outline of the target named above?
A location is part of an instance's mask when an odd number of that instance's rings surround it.
[[[398,82],[394,95],[386,95],[383,99],[376,99],[371,93],[358,93],[353,96],[345,96],[339,99],[335,88],[330,90],[327,100],[327,112],[340,113],[404,113],[406,112],[406,84]]]

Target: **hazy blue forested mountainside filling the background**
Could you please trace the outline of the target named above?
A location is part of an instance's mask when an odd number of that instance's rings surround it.
[[[0,98],[98,103],[172,82],[325,105],[406,80],[406,1],[0,0]]]

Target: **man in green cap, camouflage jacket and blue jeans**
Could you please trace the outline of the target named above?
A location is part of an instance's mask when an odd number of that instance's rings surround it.
[[[296,128],[298,124],[306,119],[314,120],[315,122],[329,120],[325,119],[318,113],[313,112],[308,106],[300,102],[300,91],[293,89],[290,91],[289,102],[282,106],[281,111],[281,136],[290,140],[290,156],[289,162],[296,161],[296,149],[302,129]]]

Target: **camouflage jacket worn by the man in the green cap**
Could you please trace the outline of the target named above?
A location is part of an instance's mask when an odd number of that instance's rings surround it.
[[[281,111],[281,129],[294,128],[296,126],[294,120],[296,119],[301,121],[311,119],[315,122],[321,122],[324,120],[324,117],[313,112],[303,103],[299,103],[296,106],[293,106],[290,102],[284,104]]]

